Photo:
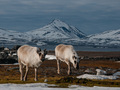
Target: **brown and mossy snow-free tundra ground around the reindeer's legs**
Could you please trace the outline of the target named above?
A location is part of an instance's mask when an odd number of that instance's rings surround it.
[[[50,55],[54,55],[54,51],[49,51]],[[57,62],[56,60],[46,60],[38,69],[38,82],[44,82],[47,79],[47,83],[59,84],[62,87],[67,87],[69,84],[78,84],[85,86],[118,86],[120,87],[120,80],[86,80],[77,79],[76,76],[89,73],[96,74],[96,69],[103,69],[107,71],[108,75],[120,71],[120,63],[115,58],[120,57],[120,52],[78,52],[79,56],[84,56],[80,61],[79,70],[75,70],[71,64],[72,74],[67,75],[67,65],[61,62],[61,73],[57,74]],[[97,57],[97,59],[95,58]],[[98,58],[102,57],[102,58]],[[107,57],[107,58],[106,58]],[[109,60],[108,60],[109,59]],[[91,72],[86,72],[89,69]],[[25,71],[25,70],[24,70]],[[34,81],[34,69],[30,68],[27,81],[20,81],[20,72],[18,65],[0,65],[0,83],[35,83]]]

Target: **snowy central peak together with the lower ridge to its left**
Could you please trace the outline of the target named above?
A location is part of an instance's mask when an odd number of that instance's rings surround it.
[[[84,37],[85,34],[80,30],[58,19],[42,28],[25,33],[0,29],[0,43],[3,44],[76,44],[76,40]]]

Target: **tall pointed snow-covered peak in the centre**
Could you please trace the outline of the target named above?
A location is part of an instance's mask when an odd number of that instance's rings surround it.
[[[37,39],[79,39],[85,37],[77,28],[70,26],[58,19],[53,20],[50,24],[27,32],[33,38]]]

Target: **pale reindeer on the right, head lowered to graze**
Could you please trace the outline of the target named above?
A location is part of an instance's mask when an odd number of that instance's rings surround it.
[[[74,68],[79,69],[80,60],[72,45],[60,44],[56,46],[55,55],[57,59],[58,74],[60,74],[60,61],[63,61],[68,65],[68,75],[70,75],[71,71],[70,62],[73,64]]]

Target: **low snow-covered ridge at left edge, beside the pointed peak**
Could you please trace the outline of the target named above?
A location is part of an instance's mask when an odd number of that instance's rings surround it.
[[[0,28],[0,44],[24,44],[28,43],[28,35],[12,30]]]

